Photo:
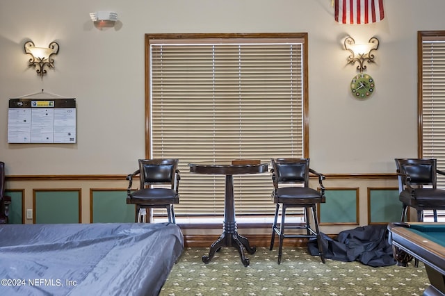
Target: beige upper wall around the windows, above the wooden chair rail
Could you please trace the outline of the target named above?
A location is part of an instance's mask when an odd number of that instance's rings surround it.
[[[95,28],[88,14],[97,10],[114,10],[120,22]],[[8,175],[132,172],[145,154],[145,33],[307,32],[312,167],[394,172],[394,158],[417,153],[416,32],[444,30],[444,11],[443,0],[390,0],[382,22],[350,26],[334,22],[331,0],[1,1],[0,160]],[[380,39],[367,70],[371,99],[350,94],[346,35]],[[27,67],[27,38],[60,44],[43,79]],[[76,145],[7,143],[8,99],[41,89],[76,97]]]

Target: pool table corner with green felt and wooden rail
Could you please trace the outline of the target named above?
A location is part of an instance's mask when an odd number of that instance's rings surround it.
[[[404,257],[396,256],[402,250],[425,264],[431,285],[423,295],[445,295],[445,223],[391,223],[388,231],[396,260]]]

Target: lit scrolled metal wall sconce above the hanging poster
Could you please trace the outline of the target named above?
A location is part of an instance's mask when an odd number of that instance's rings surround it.
[[[49,68],[54,68],[54,60],[52,55],[58,54],[58,43],[53,41],[48,47],[35,47],[34,42],[28,41],[24,44],[25,54],[31,54],[29,59],[29,67],[37,67],[37,74],[42,76],[47,74],[44,69],[46,65]]]

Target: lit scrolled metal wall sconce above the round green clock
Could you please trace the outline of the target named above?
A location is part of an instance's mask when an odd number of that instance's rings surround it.
[[[351,53],[351,55],[348,56],[348,64],[354,65],[355,62],[358,62],[357,70],[362,73],[363,70],[366,69],[366,65],[364,65],[365,60],[367,60],[368,63],[375,63],[374,55],[371,54],[371,52],[378,49],[378,43],[379,41],[375,37],[371,38],[368,43],[357,44],[352,37],[346,38],[344,43],[345,49]]]

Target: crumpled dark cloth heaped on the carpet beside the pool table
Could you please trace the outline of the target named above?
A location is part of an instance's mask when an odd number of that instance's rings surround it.
[[[368,225],[341,231],[337,240],[321,233],[323,254],[327,259],[359,261],[373,267],[395,265],[392,247],[388,242],[387,225]],[[307,244],[309,254],[318,255],[315,239]]]

